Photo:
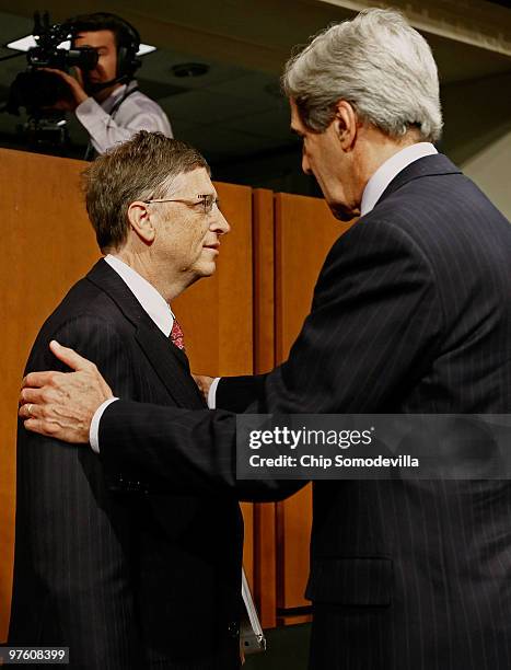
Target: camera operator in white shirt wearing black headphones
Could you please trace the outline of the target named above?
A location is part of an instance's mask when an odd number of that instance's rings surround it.
[[[55,107],[74,112],[90,136],[85,158],[104,153],[117,142],[129,139],[138,130],[159,130],[172,137],[163,109],[141,93],[135,71],[140,35],[127,21],[115,14],[96,12],[70,19],[72,47],[93,47],[97,65],[86,72],[76,68],[77,77],[62,70],[45,68],[69,86],[69,96]]]

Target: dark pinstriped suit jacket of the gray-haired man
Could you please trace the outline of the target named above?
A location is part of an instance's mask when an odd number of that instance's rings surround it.
[[[288,361],[224,380],[218,404],[251,395],[258,413],[510,413],[509,222],[445,157],[408,165],[334,244]],[[234,418],[206,414],[114,403],[105,467],[289,493],[236,482]],[[311,668],[510,668],[510,522],[509,481],[315,483]]]

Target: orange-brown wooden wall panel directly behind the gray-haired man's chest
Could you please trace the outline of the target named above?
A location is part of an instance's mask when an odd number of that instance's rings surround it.
[[[284,360],[311,308],[326,254],[351,223],[341,223],[324,200],[278,194],[275,198],[276,363]],[[301,623],[286,610],[304,608],[312,523],[311,486],[277,506],[279,623]]]

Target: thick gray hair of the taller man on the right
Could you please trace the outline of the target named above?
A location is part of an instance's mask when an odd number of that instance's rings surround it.
[[[442,130],[437,65],[426,39],[395,10],[368,9],[312,38],[286,65],[282,88],[305,126],[323,131],[339,100],[393,138]]]

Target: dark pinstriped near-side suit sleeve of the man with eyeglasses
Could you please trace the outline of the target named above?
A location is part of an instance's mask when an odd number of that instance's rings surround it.
[[[97,360],[108,383],[129,396],[129,360],[104,320],[84,315],[57,330],[44,328],[26,371],[66,370],[48,348],[53,337]],[[35,632],[44,629],[47,638],[66,639],[88,668],[107,654],[129,668],[138,635],[124,546],[130,522],[104,480],[92,450],[30,432],[20,421],[15,554],[20,577],[11,633],[13,640],[37,644]],[[48,608],[55,616],[48,616]]]

